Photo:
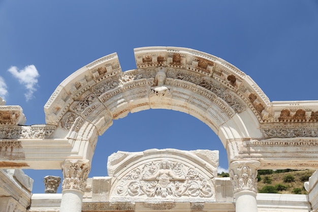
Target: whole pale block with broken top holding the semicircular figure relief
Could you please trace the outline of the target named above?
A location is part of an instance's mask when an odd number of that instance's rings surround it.
[[[110,201],[214,202],[218,151],[150,149],[109,157]]]

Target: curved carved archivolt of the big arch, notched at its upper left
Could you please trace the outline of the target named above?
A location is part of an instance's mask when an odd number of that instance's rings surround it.
[[[260,132],[270,101],[249,76],[225,60],[177,47],[137,48],[135,57],[134,70],[122,72],[113,53],[69,76],[45,105],[47,124],[74,139],[97,140],[113,119],[164,108],[199,118],[225,146],[231,139],[249,138],[251,132],[261,135],[255,132]],[[160,85],[159,71],[165,75]]]

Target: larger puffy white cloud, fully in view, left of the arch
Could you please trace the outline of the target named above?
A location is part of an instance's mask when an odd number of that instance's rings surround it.
[[[37,68],[34,65],[29,65],[18,70],[17,67],[12,66],[8,71],[19,80],[20,84],[25,86],[27,90],[24,94],[26,101],[32,99],[33,93],[37,90],[38,77],[40,76]]]

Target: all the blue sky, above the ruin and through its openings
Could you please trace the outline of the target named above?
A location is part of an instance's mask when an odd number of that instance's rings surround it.
[[[269,1],[0,1],[0,96],[20,105],[26,125],[45,124],[43,107],[73,72],[117,52],[123,71],[136,68],[134,48],[193,48],[249,75],[270,101],[318,100],[318,2]],[[148,148],[224,147],[200,120],[146,110],[115,120],[99,137],[89,177],[107,175],[107,157]],[[44,193],[45,175],[33,193]],[[60,192],[60,188],[59,191]]]

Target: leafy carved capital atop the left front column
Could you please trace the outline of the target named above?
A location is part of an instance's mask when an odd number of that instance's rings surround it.
[[[62,190],[77,189],[84,192],[90,171],[89,160],[65,160],[61,164],[63,172]]]

